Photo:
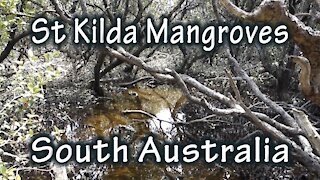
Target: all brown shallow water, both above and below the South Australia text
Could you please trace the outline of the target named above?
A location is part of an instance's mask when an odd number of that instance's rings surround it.
[[[178,129],[175,123],[186,121],[185,113],[182,111],[184,104],[186,98],[182,92],[170,86],[130,88],[112,94],[110,100],[82,109],[82,120],[78,122],[79,124],[76,122],[73,127],[70,126],[66,135],[69,140],[78,141],[90,140],[97,136],[108,138],[113,134],[119,134],[129,143],[132,156],[135,157],[141,147],[141,139],[150,133],[156,134],[161,141],[180,140],[178,136],[181,129]],[[192,128],[197,127],[192,126]],[[133,161],[126,165],[106,164],[102,177],[103,179],[239,179],[242,170],[236,169],[201,162],[191,165],[165,165],[152,162],[138,164]],[[245,172],[251,174],[248,170]]]

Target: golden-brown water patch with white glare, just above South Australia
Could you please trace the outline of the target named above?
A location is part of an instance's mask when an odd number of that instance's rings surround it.
[[[182,93],[169,86],[135,87],[96,105],[84,124],[98,136],[109,136],[113,128],[123,125],[143,134],[162,133],[171,138],[176,134],[174,117],[181,120],[183,113],[178,110],[184,102]],[[141,122],[145,123],[145,129],[141,129]]]

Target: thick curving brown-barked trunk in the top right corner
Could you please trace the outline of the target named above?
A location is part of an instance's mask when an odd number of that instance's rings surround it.
[[[294,42],[300,47],[303,56],[310,63],[309,82],[300,81],[302,93],[313,103],[320,106],[320,32],[305,26],[296,16],[289,13],[283,1],[265,0],[253,12],[246,12],[236,7],[229,0],[220,0],[221,4],[234,16],[249,22],[284,23]],[[301,66],[301,62],[296,62]],[[307,70],[301,66],[302,70]],[[302,71],[307,74],[306,71]],[[309,73],[309,72],[308,72]],[[303,75],[302,74],[302,75]],[[302,76],[302,79],[306,76]],[[310,87],[307,87],[309,83]]]

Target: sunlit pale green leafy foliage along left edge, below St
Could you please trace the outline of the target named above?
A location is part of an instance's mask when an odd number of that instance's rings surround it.
[[[40,132],[43,121],[39,107],[45,103],[45,86],[48,82],[57,79],[62,69],[53,62],[59,57],[59,52],[48,52],[40,56],[28,51],[28,58],[13,61],[9,67],[1,65],[1,73],[10,72],[11,77],[1,76],[3,105],[0,110],[0,144],[3,149],[12,149],[15,153],[12,158],[15,162],[6,162],[0,159],[0,178],[18,178],[15,174],[17,163],[26,163],[23,147],[35,132]]]

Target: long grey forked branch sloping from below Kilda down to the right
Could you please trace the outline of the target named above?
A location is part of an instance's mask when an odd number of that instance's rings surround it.
[[[244,109],[242,107],[240,107],[240,105],[237,104],[237,102],[235,102],[233,99],[231,99],[231,98],[229,98],[219,92],[216,92],[213,89],[206,87],[205,85],[201,84],[199,81],[197,81],[196,79],[194,79],[188,75],[178,74],[177,72],[170,70],[170,69],[166,69],[165,71],[155,70],[155,69],[147,66],[139,57],[135,57],[133,55],[130,55],[130,53],[126,52],[122,48],[120,48],[120,50],[119,50],[120,52],[113,50],[111,48],[106,48],[106,49],[111,57],[116,57],[118,59],[121,59],[121,60],[129,63],[129,64],[136,65],[136,66],[138,66],[138,68],[144,69],[145,71],[152,74],[157,79],[174,82],[175,84],[177,84],[181,88],[181,90],[189,98],[189,100],[191,100],[195,103],[201,104],[204,107],[207,107],[214,114],[224,115],[224,116],[225,115],[234,115],[234,116],[245,115]],[[190,87],[194,87],[199,92],[207,95],[208,97],[211,97],[211,98],[225,104],[229,108],[221,109],[221,108],[214,107],[209,102],[207,102],[205,99],[203,99],[203,98],[200,99],[198,97],[191,95],[186,84]],[[279,106],[279,108],[281,108],[281,107]],[[290,126],[284,125],[280,122],[277,122],[277,121],[271,119],[270,117],[268,117],[267,115],[262,114],[262,113],[253,112],[253,114],[255,116],[257,116],[259,119],[261,119],[264,123],[267,123],[280,131],[286,132],[290,135],[301,134],[301,130],[299,130],[297,127],[290,127]]]

